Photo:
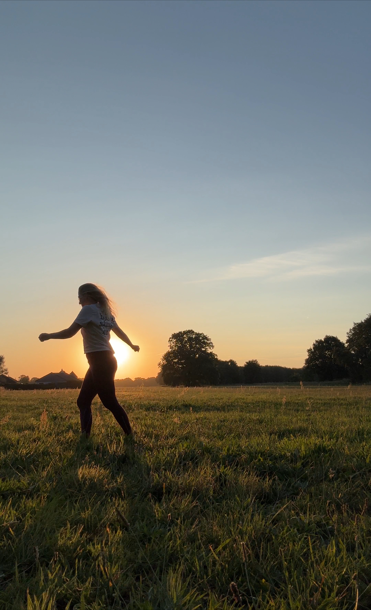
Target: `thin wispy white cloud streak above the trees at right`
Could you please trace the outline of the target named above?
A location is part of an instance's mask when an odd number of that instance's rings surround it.
[[[263,256],[248,262],[219,268],[210,273],[209,278],[197,282],[212,282],[241,278],[265,278],[270,281],[284,281],[308,276],[335,276],[340,273],[371,271],[365,264],[365,254],[369,260],[371,236],[292,250],[283,254]]]

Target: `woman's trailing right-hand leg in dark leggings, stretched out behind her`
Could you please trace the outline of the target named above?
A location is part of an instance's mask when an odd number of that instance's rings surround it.
[[[115,373],[117,361],[109,351],[95,352],[90,363],[96,393],[103,405],[108,409],[125,434],[132,434],[128,414],[116,398]],[[92,356],[92,354],[89,354]]]

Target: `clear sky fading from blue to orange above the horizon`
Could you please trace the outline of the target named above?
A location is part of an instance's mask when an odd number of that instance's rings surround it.
[[[120,376],[156,375],[185,328],[239,364],[345,339],[371,310],[370,18],[355,0],[2,2],[10,374],[82,371],[77,339],[37,336],[85,281],[142,345]]]

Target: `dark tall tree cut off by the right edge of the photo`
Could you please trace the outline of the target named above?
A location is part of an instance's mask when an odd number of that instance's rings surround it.
[[[354,359],[353,376],[371,380],[371,314],[355,322],[347,332],[347,346]]]

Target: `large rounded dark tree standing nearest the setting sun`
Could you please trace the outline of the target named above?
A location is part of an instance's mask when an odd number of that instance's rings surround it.
[[[174,332],[159,367],[166,386],[204,386],[218,382],[214,345],[203,332]]]

